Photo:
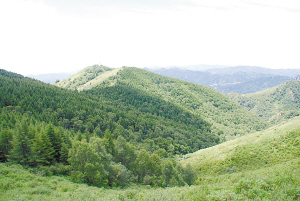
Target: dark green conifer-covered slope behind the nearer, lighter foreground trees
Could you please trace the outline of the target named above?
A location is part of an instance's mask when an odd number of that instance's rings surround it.
[[[15,127],[15,123],[5,118],[10,111],[19,111],[38,122],[84,133],[86,138],[102,137],[108,129],[114,138],[123,136],[150,153],[158,149],[168,151],[168,147],[173,146],[171,154],[184,154],[219,142],[219,137],[211,132],[211,124],[200,116],[138,89],[119,87],[119,91],[105,94],[111,89],[108,87],[100,94],[78,93],[3,70],[0,73],[0,108],[4,119],[0,126],[3,127]],[[115,96],[127,98],[130,104],[114,101]],[[148,99],[148,107],[132,104],[137,101],[136,97],[140,100],[138,104],[147,103],[145,99]]]

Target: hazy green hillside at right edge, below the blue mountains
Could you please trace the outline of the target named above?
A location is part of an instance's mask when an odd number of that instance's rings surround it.
[[[300,114],[299,80],[288,81],[254,94],[230,93],[227,96],[272,124],[280,123]]]

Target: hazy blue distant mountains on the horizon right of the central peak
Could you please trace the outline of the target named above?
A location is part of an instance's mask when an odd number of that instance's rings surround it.
[[[161,75],[202,84],[221,93],[255,93],[277,86],[300,73],[298,69],[267,69],[251,66],[191,71],[179,68],[147,69]]]

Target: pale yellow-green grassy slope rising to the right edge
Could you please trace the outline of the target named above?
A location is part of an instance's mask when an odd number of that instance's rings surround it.
[[[185,156],[203,175],[256,170],[293,160],[300,154],[300,117]]]

